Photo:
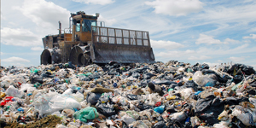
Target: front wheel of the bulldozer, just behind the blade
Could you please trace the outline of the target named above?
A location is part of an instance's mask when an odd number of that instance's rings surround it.
[[[73,49],[71,49],[71,52],[69,55],[69,61],[72,61],[74,65],[79,65],[79,66],[88,65],[90,56],[86,56],[87,55],[86,53],[89,52],[86,49],[89,49],[89,46],[74,46]]]

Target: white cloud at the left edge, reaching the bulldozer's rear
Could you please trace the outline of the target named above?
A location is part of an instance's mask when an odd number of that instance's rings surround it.
[[[15,46],[35,46],[42,44],[41,39],[27,29],[3,27],[1,29],[2,43]]]

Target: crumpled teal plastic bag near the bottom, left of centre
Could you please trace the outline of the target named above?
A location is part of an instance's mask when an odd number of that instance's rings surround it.
[[[83,108],[76,113],[73,113],[74,119],[79,119],[80,121],[86,123],[87,119],[96,119],[98,117],[96,108]]]

